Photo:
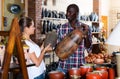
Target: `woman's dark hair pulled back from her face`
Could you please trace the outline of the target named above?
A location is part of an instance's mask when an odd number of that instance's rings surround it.
[[[23,29],[25,27],[29,28],[32,25],[32,21],[33,21],[33,19],[30,18],[30,17],[22,17],[22,18],[20,18],[20,20],[19,20],[19,26],[20,26],[21,32],[23,32]]]

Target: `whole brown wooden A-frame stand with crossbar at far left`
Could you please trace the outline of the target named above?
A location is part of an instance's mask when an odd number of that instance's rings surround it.
[[[8,43],[6,45],[6,51],[4,55],[3,65],[0,69],[0,79],[8,79],[8,72],[9,66],[11,61],[11,56],[13,54],[13,50],[15,44],[17,46],[17,57],[19,59],[20,68],[23,74],[23,79],[28,79],[27,68],[25,63],[25,57],[23,53],[23,46],[21,43],[21,36],[20,36],[20,27],[18,25],[18,19],[14,18],[11,24],[11,29],[9,32],[7,31],[0,31],[0,36],[8,36]]]

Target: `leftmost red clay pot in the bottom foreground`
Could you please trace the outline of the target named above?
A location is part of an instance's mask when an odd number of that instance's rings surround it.
[[[48,74],[49,79],[64,79],[65,75],[60,71],[51,71]]]

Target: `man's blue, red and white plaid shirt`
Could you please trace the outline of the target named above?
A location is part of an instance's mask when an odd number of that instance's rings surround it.
[[[80,27],[81,22],[76,22],[76,27]],[[74,29],[71,27],[69,23],[65,23],[62,25],[59,29],[57,29],[58,34],[58,42],[60,42],[68,33],[73,31]],[[81,29],[83,30],[83,28]],[[90,28],[88,29],[88,38],[90,42],[92,43],[92,34]],[[91,50],[92,45],[88,50]],[[84,59],[84,39],[82,40],[81,44],[79,45],[78,49],[66,60],[59,60],[59,66],[63,68],[64,70],[68,70],[70,68],[79,68],[81,65],[85,63]]]

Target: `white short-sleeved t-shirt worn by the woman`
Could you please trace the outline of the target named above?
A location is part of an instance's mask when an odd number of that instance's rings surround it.
[[[29,53],[35,52],[37,57],[40,56],[41,49],[36,43],[34,43],[33,41],[29,41],[29,40],[25,40],[25,43],[29,46]],[[30,63],[33,63],[33,62],[30,60]],[[37,66],[27,67],[29,79],[34,79],[35,77],[42,74],[45,70],[46,68],[45,68],[45,63],[43,60],[39,67]]]

